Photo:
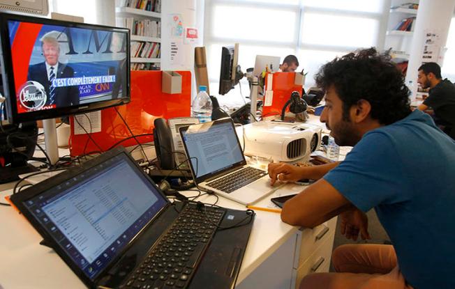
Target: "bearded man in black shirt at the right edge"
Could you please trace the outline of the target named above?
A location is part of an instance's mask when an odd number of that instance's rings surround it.
[[[430,88],[428,97],[417,109],[431,107],[435,123],[443,132],[455,139],[455,86],[447,78],[442,79],[438,63],[428,62],[419,67],[417,82],[422,88]]]

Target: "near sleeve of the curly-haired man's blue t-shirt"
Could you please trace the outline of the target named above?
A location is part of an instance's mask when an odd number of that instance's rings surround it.
[[[352,205],[367,212],[380,204],[408,201],[410,192],[394,140],[382,132],[369,132],[324,176]]]

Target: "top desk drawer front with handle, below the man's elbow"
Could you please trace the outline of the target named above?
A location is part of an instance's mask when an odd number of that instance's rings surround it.
[[[326,221],[313,229],[304,229],[301,236],[299,262],[297,263],[297,267],[304,263],[320,244],[329,239],[331,235],[334,235],[335,229],[336,217],[329,219],[329,221]]]

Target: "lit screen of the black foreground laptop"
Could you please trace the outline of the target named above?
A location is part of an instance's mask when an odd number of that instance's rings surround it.
[[[89,279],[167,203],[138,170],[121,153],[24,203]]]

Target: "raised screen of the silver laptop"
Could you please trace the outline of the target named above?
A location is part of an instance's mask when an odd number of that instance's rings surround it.
[[[198,182],[246,164],[232,120],[190,125],[180,133]]]

